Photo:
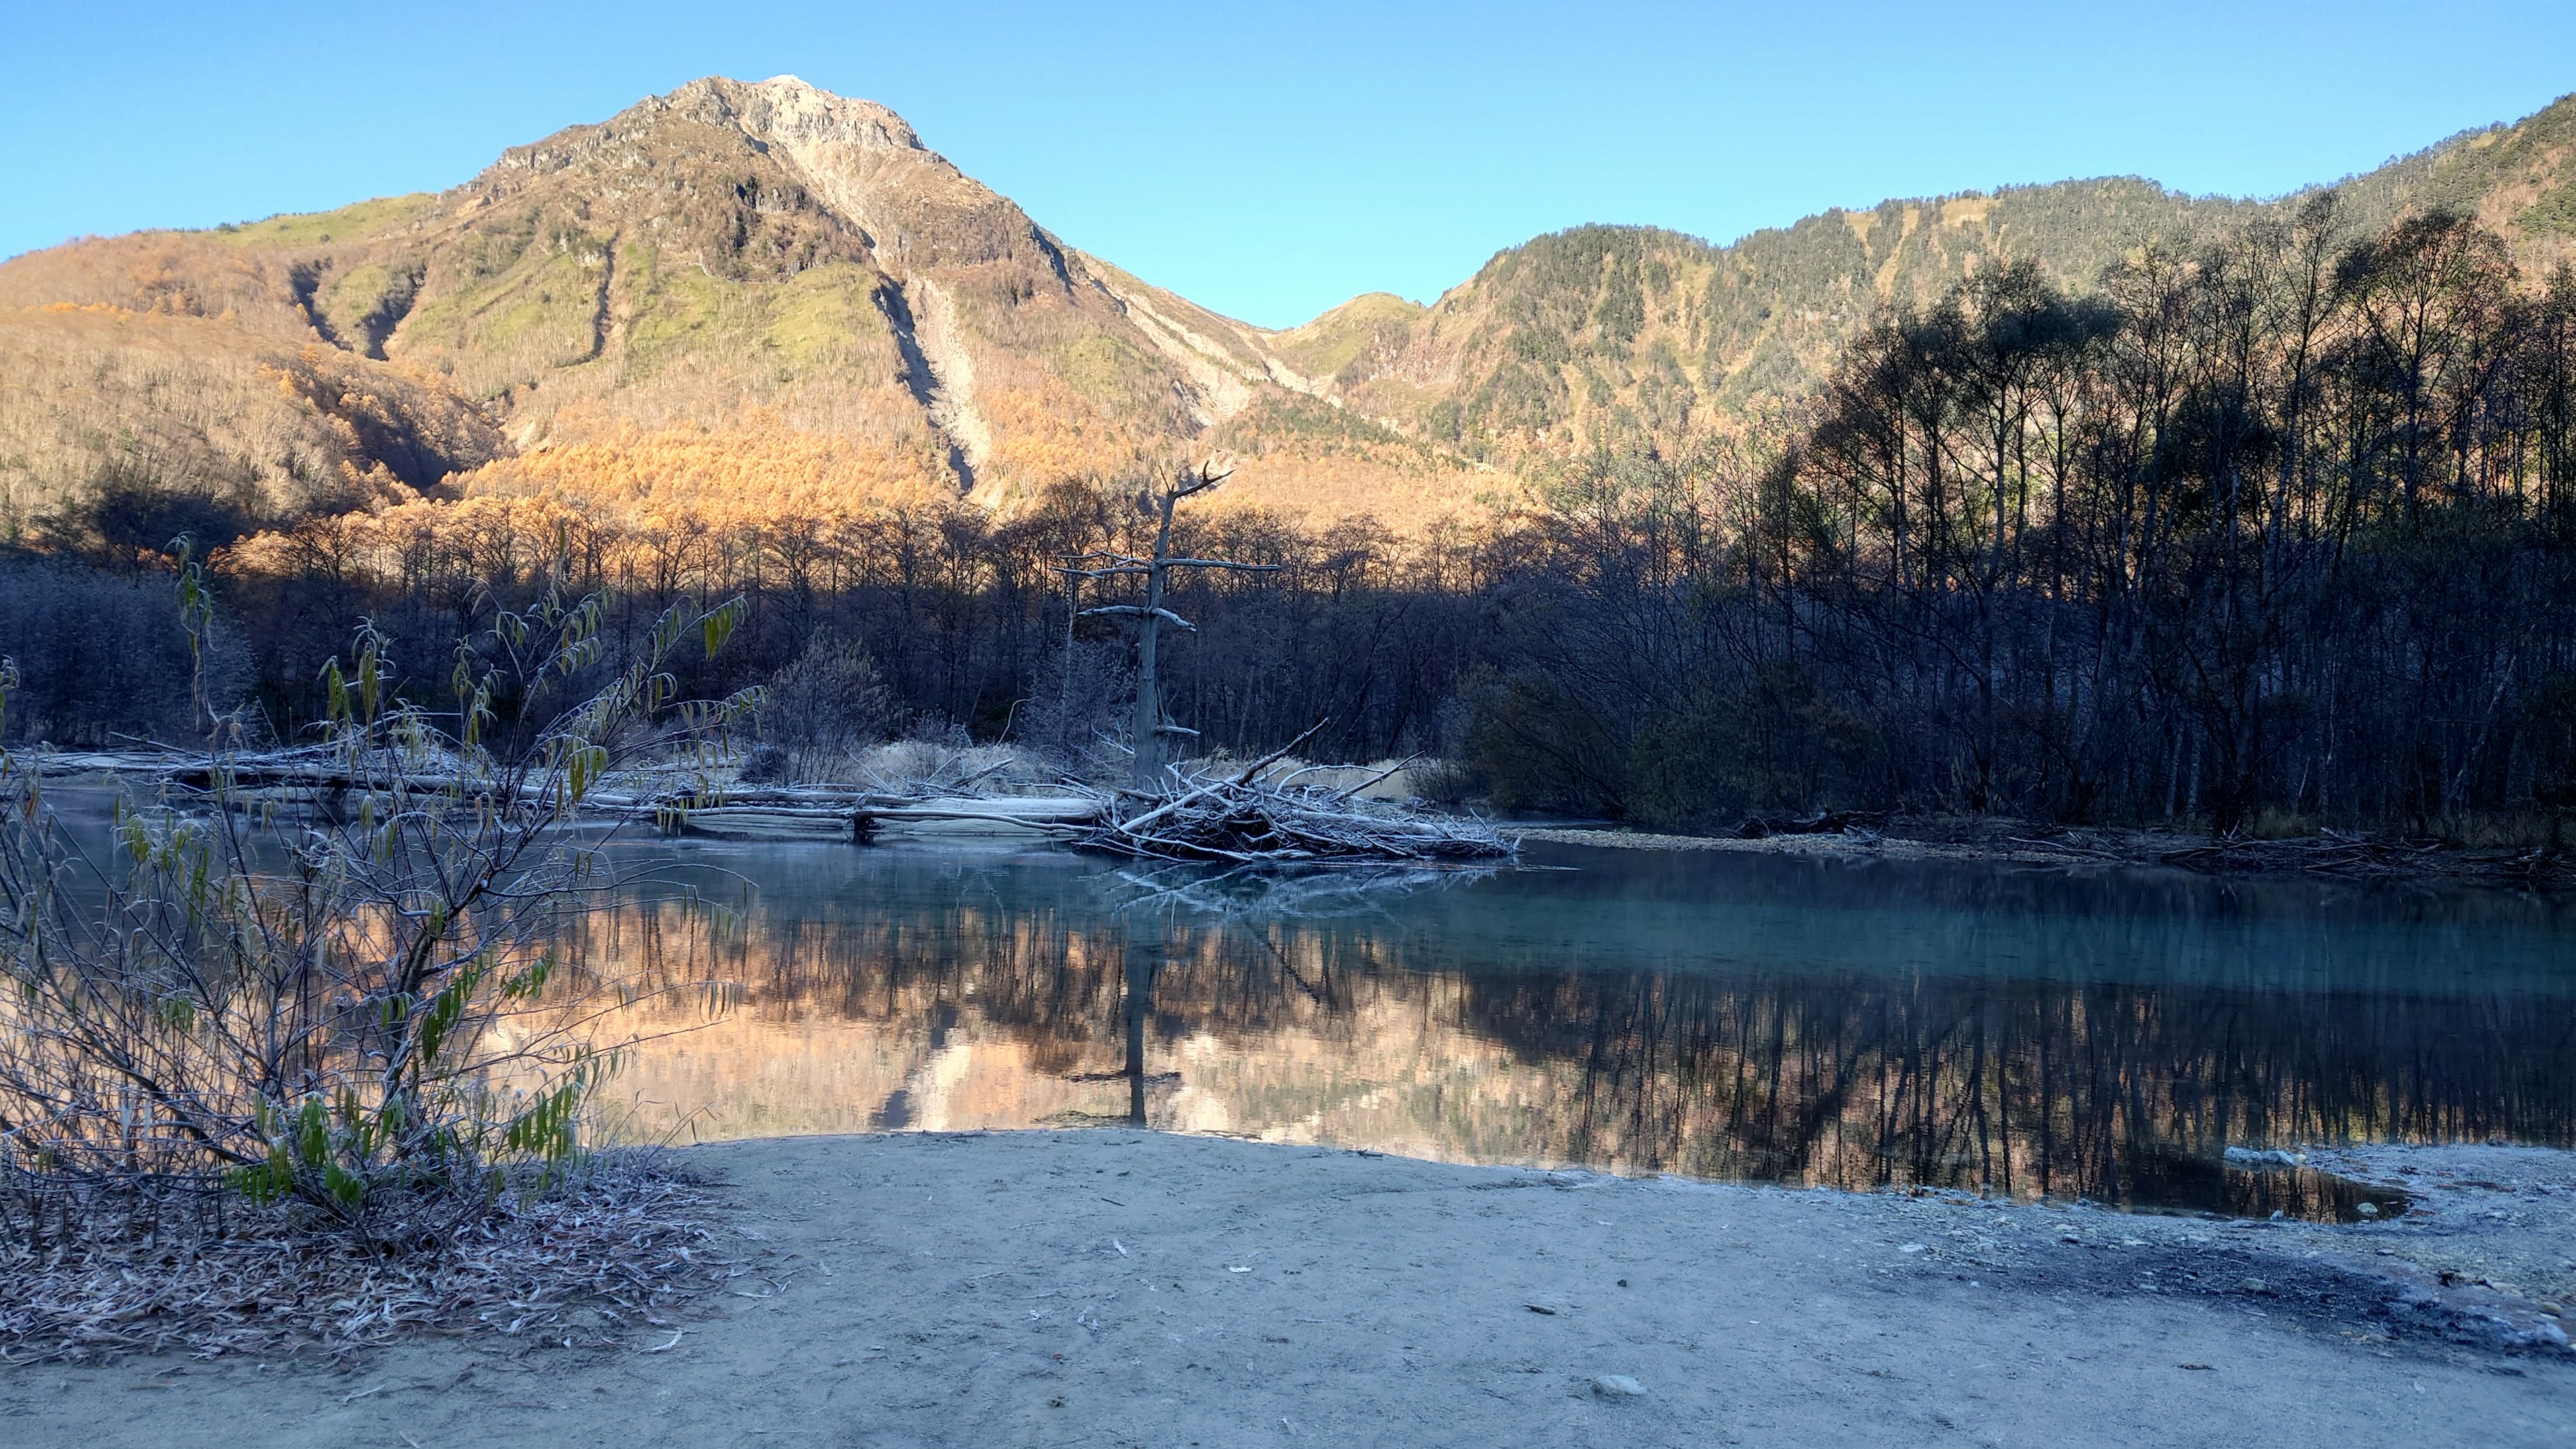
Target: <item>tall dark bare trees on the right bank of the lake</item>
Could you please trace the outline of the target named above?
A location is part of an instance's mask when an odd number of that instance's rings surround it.
[[[1471,688],[1512,794],[2555,830],[2576,281],[2331,199],[1862,335],[1777,456],[1600,459]]]

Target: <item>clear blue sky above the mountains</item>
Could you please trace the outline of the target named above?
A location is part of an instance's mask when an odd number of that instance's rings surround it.
[[[453,186],[696,75],[781,72],[1288,325],[1577,222],[1731,240],[2105,173],[2272,196],[2576,90],[2576,5],[0,0],[0,255]]]

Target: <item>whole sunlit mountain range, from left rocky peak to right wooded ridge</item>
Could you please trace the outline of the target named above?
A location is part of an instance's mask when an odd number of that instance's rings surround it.
[[[2339,191],[2357,235],[2473,211],[2537,278],[2576,253],[2576,98]],[[1989,258],[2081,289],[2298,201],[2107,178],[1726,248],[1577,227],[1432,307],[1265,330],[1066,248],[884,106],[696,80],[435,196],[0,263],[0,536],[118,487],[260,521],[528,490],[639,518],[1012,511],[1211,449],[1244,459],[1236,503],[1409,529],[1798,397],[1883,304]]]

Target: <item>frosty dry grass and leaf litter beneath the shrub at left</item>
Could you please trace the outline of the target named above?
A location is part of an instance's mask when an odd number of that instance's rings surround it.
[[[482,1330],[623,1343],[742,1274],[711,1209],[703,1181],[639,1155],[505,1194],[410,1245],[332,1232],[296,1204],[21,1183],[0,1189],[0,1361],[348,1354]]]

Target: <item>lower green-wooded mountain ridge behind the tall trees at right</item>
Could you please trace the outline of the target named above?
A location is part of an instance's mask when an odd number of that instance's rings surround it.
[[[1824,211],[1713,248],[1651,227],[1577,227],[1499,253],[1435,307],[1378,299],[1301,333],[1337,338],[1329,392],[1409,436],[1517,464],[1595,446],[1672,446],[1806,397],[1891,304],[1922,307],[1999,258],[2094,291],[2148,242],[2202,245],[2277,201],[2099,178]],[[2576,98],[2334,186],[2349,237],[2450,209],[2506,237],[2527,281],[2576,253]]]

